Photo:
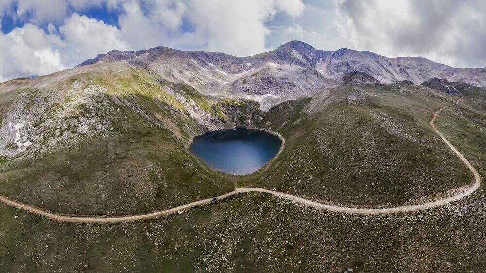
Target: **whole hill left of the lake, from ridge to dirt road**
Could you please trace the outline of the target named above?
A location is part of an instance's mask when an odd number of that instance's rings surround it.
[[[188,109],[218,120],[211,102],[143,69],[116,69],[124,70],[79,73],[55,87],[11,91],[14,99],[8,98],[12,104],[5,108],[17,115],[2,123],[23,118],[30,139],[40,133],[29,150],[2,161],[2,194],[61,213],[120,215],[162,210],[233,189],[224,174],[208,169],[186,149],[191,137],[203,132]],[[51,99],[50,104],[39,97]],[[80,133],[82,120],[88,125]],[[15,129],[9,130],[13,137]]]

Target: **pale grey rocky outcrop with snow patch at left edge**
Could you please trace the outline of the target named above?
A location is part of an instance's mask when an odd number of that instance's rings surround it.
[[[31,154],[107,132],[116,106],[99,85],[74,82],[67,92],[23,91],[0,128],[0,156]]]

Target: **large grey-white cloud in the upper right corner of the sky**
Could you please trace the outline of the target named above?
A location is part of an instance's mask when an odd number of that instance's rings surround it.
[[[336,4],[342,34],[355,47],[389,56],[424,55],[458,67],[486,66],[484,1],[337,0]]]

